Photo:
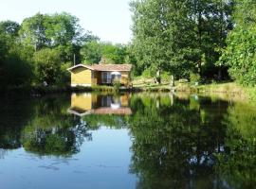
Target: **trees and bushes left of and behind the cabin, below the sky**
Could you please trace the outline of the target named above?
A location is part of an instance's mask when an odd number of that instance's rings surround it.
[[[84,31],[68,13],[41,14],[0,23],[0,88],[9,86],[66,85],[66,71],[76,63],[135,61],[128,46],[103,43]]]

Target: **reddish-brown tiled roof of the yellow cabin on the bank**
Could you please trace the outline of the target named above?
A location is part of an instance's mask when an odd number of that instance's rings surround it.
[[[84,65],[84,64],[78,64],[71,68],[68,68],[68,71],[72,71],[76,68],[84,67],[90,70],[95,71],[128,71],[130,72],[132,70],[132,64],[93,64],[93,65]]]

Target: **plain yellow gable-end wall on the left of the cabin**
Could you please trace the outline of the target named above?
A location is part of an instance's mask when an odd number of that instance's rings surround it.
[[[91,85],[92,83],[91,70],[78,67],[71,72],[71,84],[72,85]]]

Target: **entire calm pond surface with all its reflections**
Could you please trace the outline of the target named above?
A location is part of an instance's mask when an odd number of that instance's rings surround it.
[[[173,94],[2,98],[0,188],[256,188],[256,107]]]

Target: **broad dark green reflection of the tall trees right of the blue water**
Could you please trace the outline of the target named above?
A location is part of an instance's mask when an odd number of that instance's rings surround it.
[[[224,144],[225,127],[220,124],[222,113],[216,112],[226,107],[204,107],[210,100],[197,101],[198,106],[192,100],[193,106],[189,106],[188,100],[179,100],[171,106],[168,98],[144,96],[131,100],[131,171],[140,179],[137,187],[217,186],[210,175],[214,172],[214,154],[221,152]]]

